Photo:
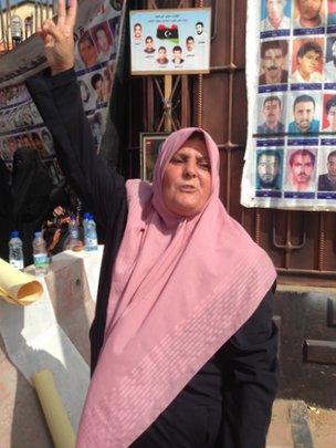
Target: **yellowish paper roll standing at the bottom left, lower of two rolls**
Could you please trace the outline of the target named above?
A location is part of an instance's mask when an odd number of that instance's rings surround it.
[[[50,371],[36,372],[33,377],[43,414],[55,448],[74,448],[75,434]]]

